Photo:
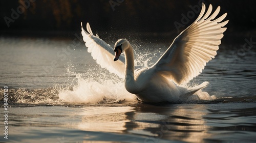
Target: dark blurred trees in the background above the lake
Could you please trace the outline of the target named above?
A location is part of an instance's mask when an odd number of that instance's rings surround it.
[[[256,1],[202,2],[207,7],[212,4],[214,9],[221,6],[220,14],[228,13],[229,32],[255,30]],[[97,31],[179,33],[174,22],[181,23],[181,14],[186,15],[191,11],[189,6],[198,3],[189,0],[5,0],[0,1],[0,32],[1,35],[14,32],[73,32],[80,31],[82,21],[84,25],[90,22],[97,27]],[[14,17],[16,19],[12,18],[13,11],[20,13]],[[192,23],[198,14],[189,19],[181,30]]]

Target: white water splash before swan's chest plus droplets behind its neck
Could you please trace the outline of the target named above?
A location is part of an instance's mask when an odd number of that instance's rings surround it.
[[[155,56],[155,53],[138,48],[135,48],[135,53],[136,66],[150,65],[151,57]],[[74,104],[137,103],[136,96],[126,91],[122,79],[99,66],[94,68],[83,74],[71,72],[68,68],[68,73],[75,75],[76,85],[70,85],[73,87],[72,91],[68,90],[69,88],[61,89],[59,99],[62,102]]]

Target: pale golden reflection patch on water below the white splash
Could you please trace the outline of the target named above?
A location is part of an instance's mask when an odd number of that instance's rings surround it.
[[[86,131],[122,132],[125,123],[130,122],[125,113],[133,111],[133,107],[86,107],[80,112],[82,119],[78,129]]]

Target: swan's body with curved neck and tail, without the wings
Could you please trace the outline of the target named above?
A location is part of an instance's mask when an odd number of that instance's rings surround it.
[[[177,103],[182,97],[192,95],[208,84],[204,82],[198,87],[186,89],[177,86],[164,75],[157,74],[159,72],[157,66],[134,70],[134,54],[131,44],[126,39],[118,40],[116,45],[118,43],[122,43],[125,55],[125,89],[144,102]]]

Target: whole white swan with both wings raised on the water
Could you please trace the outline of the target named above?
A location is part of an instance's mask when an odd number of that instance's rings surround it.
[[[219,18],[220,6],[212,12],[212,6],[202,3],[202,10],[190,26],[177,36],[159,60],[151,67],[135,67],[132,45],[126,39],[120,39],[113,48],[93,35],[90,24],[86,32],[82,27],[83,41],[88,52],[101,68],[106,68],[120,78],[124,78],[125,89],[144,102],[174,102],[193,95],[207,87],[205,81],[192,88],[179,85],[198,76],[206,63],[215,58],[221,38],[226,31],[228,20],[223,21],[227,13]],[[211,15],[210,15],[211,14]],[[124,56],[121,53],[124,53]],[[114,60],[113,60],[114,56]]]

